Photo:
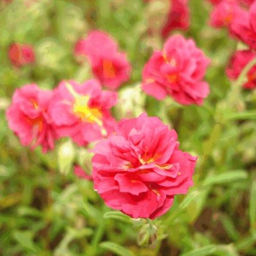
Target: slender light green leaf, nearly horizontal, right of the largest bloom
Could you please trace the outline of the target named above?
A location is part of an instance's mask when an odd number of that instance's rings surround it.
[[[204,180],[204,185],[230,183],[232,181],[246,179],[247,177],[247,172],[243,170],[226,171],[223,174],[208,176]]]

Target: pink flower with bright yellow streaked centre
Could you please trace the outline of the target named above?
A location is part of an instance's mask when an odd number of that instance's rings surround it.
[[[49,115],[59,137],[85,146],[113,131],[115,120],[109,110],[116,103],[117,93],[102,91],[96,80],[81,85],[63,81],[54,90]]]

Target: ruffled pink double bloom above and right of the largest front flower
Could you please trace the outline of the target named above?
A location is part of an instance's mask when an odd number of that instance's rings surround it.
[[[192,39],[176,35],[155,51],[143,70],[142,89],[158,100],[169,94],[183,105],[203,104],[209,86],[202,81],[209,60]]]

